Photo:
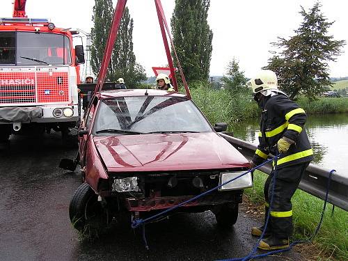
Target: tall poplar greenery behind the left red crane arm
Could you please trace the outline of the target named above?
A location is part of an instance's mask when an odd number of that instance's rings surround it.
[[[91,33],[92,47],[90,55],[94,74],[97,74],[100,70],[112,17],[112,0],[95,0],[92,17],[94,27]],[[146,75],[144,68],[139,63],[136,63],[132,35],[133,19],[130,17],[129,10],[126,7],[120,21],[118,36],[113,47],[106,78],[109,81],[116,81],[116,79],[122,77],[125,79],[128,87],[135,88],[140,81],[146,79]]]

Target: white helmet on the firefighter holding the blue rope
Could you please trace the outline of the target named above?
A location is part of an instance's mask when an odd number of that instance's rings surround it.
[[[253,93],[260,93],[262,90],[278,89],[278,79],[271,70],[261,70],[256,76],[246,84],[253,89]]]

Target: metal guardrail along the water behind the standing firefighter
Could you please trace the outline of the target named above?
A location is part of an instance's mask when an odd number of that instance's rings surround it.
[[[247,159],[253,157],[257,148],[256,145],[227,134],[220,134],[220,136],[237,148]],[[260,171],[269,174],[271,173],[271,168],[271,164],[266,164],[260,168]],[[329,169],[310,164],[303,174],[299,189],[324,200],[330,171]],[[333,173],[328,202],[348,211],[348,176],[345,177],[338,172]]]

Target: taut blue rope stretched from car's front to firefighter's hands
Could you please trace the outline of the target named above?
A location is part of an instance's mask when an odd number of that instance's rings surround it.
[[[274,158],[271,158],[271,159],[269,159],[267,161],[264,161],[264,163],[260,164],[259,166],[255,166],[255,168],[251,168],[250,170],[248,170],[245,173],[243,173],[243,174],[233,178],[232,180],[228,180],[228,181],[224,182],[223,184],[221,184],[219,186],[216,186],[216,187],[214,187],[212,189],[209,189],[209,190],[205,191],[204,193],[201,193],[201,194],[199,194],[197,196],[194,196],[193,198],[190,198],[189,200],[186,200],[186,201],[184,201],[184,202],[182,202],[182,203],[180,203],[180,204],[178,204],[176,206],[173,206],[173,207],[170,207],[168,209],[165,209],[164,211],[159,212],[159,213],[157,213],[157,214],[155,214],[153,216],[149,216],[146,219],[134,219],[134,221],[132,221],[132,225],[131,226],[132,226],[132,228],[137,228],[137,227],[141,226],[143,223],[147,223],[148,221],[150,221],[152,219],[155,219],[157,216],[164,215],[164,214],[166,214],[168,212],[173,211],[174,209],[177,209],[178,207],[181,207],[182,205],[185,205],[187,203],[190,203],[193,200],[196,200],[197,198],[201,198],[201,197],[211,193],[212,191],[214,191],[216,189],[219,189],[219,187],[222,187],[222,186],[232,182],[233,180],[237,180],[239,177],[242,177],[242,176],[244,176],[244,175],[246,175],[246,174],[248,174],[248,173],[250,173],[252,171],[255,171],[255,169],[260,168],[261,166],[264,166],[265,164],[269,163],[270,161],[273,161],[274,159],[277,159],[278,157],[280,157],[280,155],[278,155],[278,156],[276,156]]]

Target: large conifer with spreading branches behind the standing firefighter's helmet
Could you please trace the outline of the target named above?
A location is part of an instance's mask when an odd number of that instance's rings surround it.
[[[265,68],[276,72],[280,88],[291,99],[303,93],[313,100],[326,86],[332,86],[327,62],[341,54],[345,40],[333,40],[333,35],[328,35],[333,22],[327,22],[321,7],[317,2],[307,13],[301,6],[303,22],[294,31],[296,34],[289,40],[278,38],[272,43],[279,49]]]

